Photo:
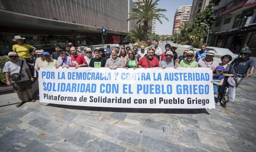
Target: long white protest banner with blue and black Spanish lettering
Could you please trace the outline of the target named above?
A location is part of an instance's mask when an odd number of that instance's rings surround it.
[[[40,67],[40,102],[117,108],[215,108],[210,68]]]

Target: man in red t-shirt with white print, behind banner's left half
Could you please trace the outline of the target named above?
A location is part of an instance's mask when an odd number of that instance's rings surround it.
[[[66,68],[75,67],[88,67],[88,64],[85,58],[77,53],[77,49],[75,47],[70,48],[72,56],[71,56],[71,65],[67,65]]]

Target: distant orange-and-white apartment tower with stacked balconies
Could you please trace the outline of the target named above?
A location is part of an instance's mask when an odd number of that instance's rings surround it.
[[[179,26],[183,23],[189,22],[192,5],[179,6],[174,15],[172,33],[180,33]]]

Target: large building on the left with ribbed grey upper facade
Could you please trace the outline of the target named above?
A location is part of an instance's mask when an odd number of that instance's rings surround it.
[[[52,49],[55,43],[76,46],[127,41],[135,21],[126,22],[132,0],[0,0],[0,49],[10,49],[14,35],[26,38],[37,49]]]

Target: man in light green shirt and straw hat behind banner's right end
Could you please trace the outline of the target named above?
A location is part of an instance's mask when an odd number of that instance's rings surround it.
[[[186,68],[198,68],[198,63],[193,60],[193,57],[195,56],[193,50],[187,51],[186,54],[184,54],[186,59],[181,60],[179,62],[179,67],[186,67]]]

